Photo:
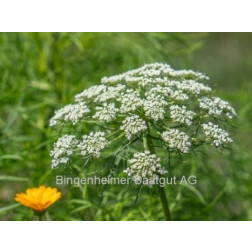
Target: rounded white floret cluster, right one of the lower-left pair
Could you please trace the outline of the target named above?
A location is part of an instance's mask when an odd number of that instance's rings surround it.
[[[98,158],[107,144],[108,141],[104,132],[91,132],[89,135],[82,136],[82,141],[79,142],[77,147],[80,149],[82,156]]]

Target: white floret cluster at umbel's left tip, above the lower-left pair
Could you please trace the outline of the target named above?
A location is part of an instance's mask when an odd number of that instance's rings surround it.
[[[85,102],[77,104],[69,104],[55,112],[55,115],[50,120],[50,126],[56,125],[59,121],[70,121],[76,124],[84,115],[90,112]]]

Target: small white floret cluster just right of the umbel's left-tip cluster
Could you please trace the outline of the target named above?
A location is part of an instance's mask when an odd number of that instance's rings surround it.
[[[115,107],[114,103],[105,102],[102,106],[96,107],[96,113],[93,118],[98,118],[101,121],[110,122],[114,118],[116,118],[118,111],[119,109]]]

